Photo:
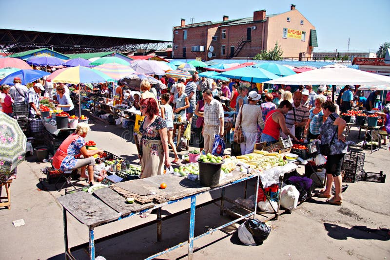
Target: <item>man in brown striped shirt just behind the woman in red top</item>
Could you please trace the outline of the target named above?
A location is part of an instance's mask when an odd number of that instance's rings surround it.
[[[289,129],[295,126],[295,137],[301,139],[304,127],[309,119],[309,109],[301,104],[302,92],[294,92],[292,99],[294,102],[292,103],[292,110],[286,114],[286,126]]]

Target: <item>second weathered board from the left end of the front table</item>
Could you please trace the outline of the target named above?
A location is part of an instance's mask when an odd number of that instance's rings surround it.
[[[122,216],[127,216],[131,212],[141,211],[143,209],[151,208],[154,206],[153,203],[142,205],[135,202],[133,204],[129,204],[126,201],[126,198],[119,195],[110,187],[98,189],[97,191],[95,191],[95,195],[98,196],[98,198],[102,202],[109,205]]]

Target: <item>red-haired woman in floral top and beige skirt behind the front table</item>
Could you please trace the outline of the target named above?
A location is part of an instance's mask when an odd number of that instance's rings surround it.
[[[145,116],[139,131],[141,137],[141,178],[160,175],[165,166],[170,167],[167,125],[158,115],[158,106],[154,98],[145,98],[140,101],[141,112]]]

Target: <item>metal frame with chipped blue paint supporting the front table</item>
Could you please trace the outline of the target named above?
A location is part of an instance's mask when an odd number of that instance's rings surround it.
[[[249,179],[252,179],[252,178],[256,178],[256,187],[255,187],[255,204],[254,204],[254,209],[253,209],[253,212],[250,212],[249,214],[246,214],[245,216],[242,216],[238,219],[235,219],[234,221],[231,221],[229,223],[226,223],[226,224],[223,224],[219,227],[216,227],[214,229],[209,229],[207,232],[199,235],[199,236],[196,236],[195,237],[195,210],[196,210],[196,207],[199,207],[199,206],[202,206],[204,204],[210,204],[210,203],[215,203],[216,201],[220,201],[220,215],[223,215],[223,212],[224,212],[224,201],[225,201],[225,187],[227,186],[231,186],[231,185],[234,185],[234,184],[237,184],[237,183],[240,183],[240,182],[246,182],[247,180]],[[239,180],[236,180],[236,181],[233,181],[232,183],[229,183],[229,184],[226,184],[226,185],[222,185],[222,186],[218,186],[218,187],[215,187],[215,188],[211,188],[210,190],[206,190],[206,191],[203,191],[203,192],[199,192],[199,193],[196,193],[194,195],[191,195],[191,196],[186,196],[186,197],[183,197],[181,199],[177,199],[177,200],[173,200],[173,201],[168,201],[168,202],[165,202],[163,204],[156,204],[154,207],[152,208],[149,208],[149,209],[145,209],[145,210],[142,210],[142,211],[139,211],[139,212],[134,212],[134,213],[131,213],[127,216],[121,216],[119,217],[117,220],[114,220],[114,221],[110,221],[110,222],[106,222],[106,223],[100,223],[100,224],[96,224],[96,225],[89,225],[88,226],[88,229],[89,229],[89,259],[90,260],[95,260],[95,227],[98,227],[100,225],[105,225],[105,224],[108,224],[108,223],[112,223],[112,222],[116,222],[116,221],[119,221],[119,220],[122,220],[122,219],[125,219],[125,218],[128,218],[128,217],[131,217],[131,216],[134,216],[134,215],[139,215],[139,214],[142,214],[143,212],[146,212],[148,210],[151,210],[151,209],[157,209],[157,219],[156,221],[152,221],[152,223],[145,223],[145,224],[153,224],[156,222],[157,224],[157,241],[161,241],[162,240],[162,221],[164,219],[167,219],[168,217],[170,216],[167,216],[167,217],[162,217],[161,216],[161,208],[163,206],[166,206],[166,205],[169,205],[169,204],[173,204],[173,203],[176,203],[176,202],[179,202],[179,201],[183,201],[183,200],[186,200],[186,199],[191,199],[191,207],[190,207],[190,228],[189,228],[189,238],[188,238],[188,241],[184,241],[184,242],[181,242],[175,246],[172,246],[162,252],[159,252],[153,256],[150,256],[147,258],[147,260],[150,260],[150,259],[154,259],[158,256],[161,256],[163,254],[166,254],[168,252],[171,252],[173,250],[175,250],[176,248],[179,248],[179,247],[182,247],[183,245],[185,244],[188,244],[188,259],[189,260],[192,260],[193,259],[193,253],[194,253],[194,241],[199,239],[199,238],[202,238],[206,235],[209,235],[209,234],[212,234],[213,232],[215,232],[216,230],[219,230],[219,229],[222,229],[226,226],[229,226],[233,223],[236,223],[236,222],[239,222],[243,219],[247,219],[251,216],[255,216],[256,215],[256,208],[257,208],[257,193],[258,193],[258,188],[259,188],[259,181],[260,181],[260,175],[251,175],[251,176],[248,176],[248,177],[244,177],[244,178],[241,178]],[[245,185],[246,187],[246,185]],[[203,193],[206,193],[206,192],[210,192],[210,191],[213,191],[213,190],[218,190],[220,189],[221,190],[221,197],[220,198],[217,198],[217,199],[214,199],[210,202],[206,202],[204,204],[201,204],[201,205],[198,205],[196,206],[196,197],[200,194],[203,194]],[[245,189],[245,193],[246,193],[246,189]],[[184,210],[186,211],[186,210]],[[65,259],[72,259],[72,260],[76,260],[76,258],[73,257],[72,253],[71,253],[71,248],[69,248],[69,244],[68,244],[68,227],[67,227],[67,216],[66,216],[66,212],[67,210],[65,209],[65,207],[63,207],[63,223],[64,223],[64,244],[65,244]],[[183,211],[181,212],[178,212],[178,213],[183,213]],[[71,214],[71,213],[70,213]],[[72,215],[72,214],[71,214]],[[177,213],[176,213],[177,215]],[[145,224],[141,225],[141,227],[145,226]],[[113,234],[113,235],[116,235],[116,234]],[[109,236],[109,237],[112,237],[113,235]],[[82,246],[82,245],[80,245]],[[80,247],[78,246],[78,247]]]

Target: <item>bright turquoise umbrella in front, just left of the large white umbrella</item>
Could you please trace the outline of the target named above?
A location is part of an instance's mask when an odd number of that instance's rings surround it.
[[[217,75],[228,78],[241,79],[253,83],[262,83],[264,81],[268,81],[269,79],[280,78],[279,76],[256,66],[239,68],[231,71],[222,72]]]

